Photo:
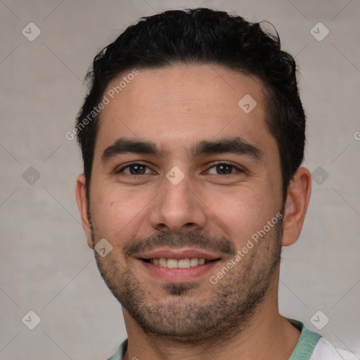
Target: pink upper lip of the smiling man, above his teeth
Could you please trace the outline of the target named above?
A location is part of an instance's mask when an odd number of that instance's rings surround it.
[[[143,252],[136,255],[138,259],[160,259],[163,257],[165,259],[186,259],[186,257],[197,257],[198,259],[206,259],[206,260],[215,260],[220,257],[214,255],[212,252],[208,252],[206,250],[201,249],[191,249],[191,248],[183,248],[183,249],[170,249],[170,248],[158,248],[155,250],[150,250],[148,252]]]

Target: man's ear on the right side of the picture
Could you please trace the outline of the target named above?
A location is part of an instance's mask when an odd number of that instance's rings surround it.
[[[292,245],[299,238],[310,194],[311,174],[305,167],[300,167],[288,186],[283,220],[283,246]]]

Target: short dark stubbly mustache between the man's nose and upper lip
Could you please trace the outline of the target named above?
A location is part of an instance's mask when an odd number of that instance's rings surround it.
[[[199,250],[221,252],[224,255],[233,255],[236,252],[235,245],[228,238],[206,236],[196,232],[182,233],[176,236],[172,233],[159,233],[148,238],[136,238],[125,245],[122,251],[125,257],[134,257],[141,252],[155,250],[161,246],[198,248]]]

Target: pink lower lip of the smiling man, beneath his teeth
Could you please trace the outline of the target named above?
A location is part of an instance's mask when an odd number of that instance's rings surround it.
[[[188,267],[186,269],[169,269],[164,266],[144,262],[143,260],[139,260],[139,262],[141,262],[141,264],[145,266],[146,270],[156,278],[172,283],[180,283],[183,281],[195,280],[195,278],[204,275],[207,271],[212,269],[212,267],[217,263],[217,260],[207,262],[207,264],[203,265]]]

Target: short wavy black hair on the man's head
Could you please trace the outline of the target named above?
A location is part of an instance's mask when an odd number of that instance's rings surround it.
[[[304,159],[306,116],[297,87],[295,60],[281,50],[280,38],[274,32],[264,32],[261,23],[250,23],[225,11],[171,10],[141,18],[100,51],[86,75],[89,93],[75,126],[88,200],[100,114],[97,106],[109,82],[125,71],[183,63],[219,65],[255,75],[262,81],[266,92],[265,121],[278,145],[285,201],[290,180]]]

